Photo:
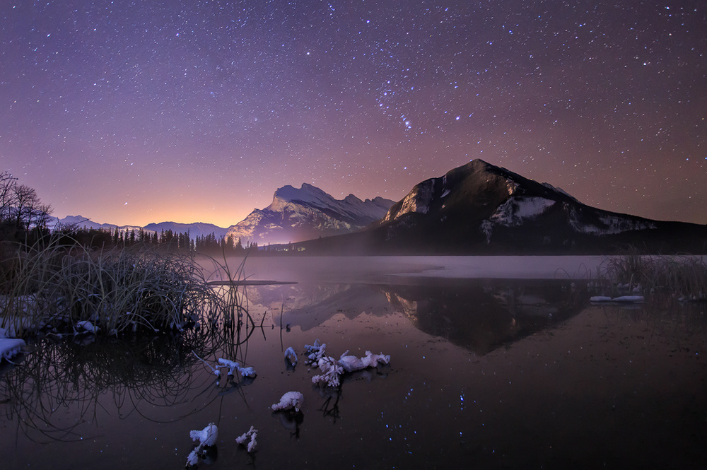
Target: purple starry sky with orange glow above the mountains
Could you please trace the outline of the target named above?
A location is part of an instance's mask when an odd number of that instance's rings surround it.
[[[0,171],[54,216],[226,227],[482,158],[707,223],[696,1],[0,0]]]

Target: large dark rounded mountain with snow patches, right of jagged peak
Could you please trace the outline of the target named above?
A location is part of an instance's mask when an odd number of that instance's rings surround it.
[[[707,226],[592,208],[547,183],[473,160],[425,180],[378,223],[298,244],[309,252],[414,254],[705,252]]]

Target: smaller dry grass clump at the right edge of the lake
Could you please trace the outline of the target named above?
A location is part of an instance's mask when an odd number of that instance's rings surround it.
[[[707,262],[691,255],[627,254],[604,260],[599,269],[604,286],[679,300],[707,300]]]

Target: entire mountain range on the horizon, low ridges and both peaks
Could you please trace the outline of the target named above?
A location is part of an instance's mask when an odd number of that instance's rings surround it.
[[[81,216],[54,223],[115,229]],[[233,235],[244,246],[293,243],[310,254],[609,254],[626,247],[707,252],[707,225],[603,211],[484,160],[420,182],[397,202],[353,194],[339,200],[303,184],[277,189],[272,204],[228,228],[163,222],[143,230]]]

